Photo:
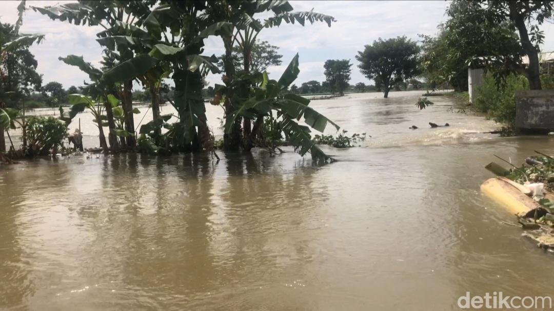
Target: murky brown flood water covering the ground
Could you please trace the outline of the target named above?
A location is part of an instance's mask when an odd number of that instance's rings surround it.
[[[479,186],[493,154],[519,164],[554,140],[483,134],[493,122],[449,97],[419,111],[420,95],[313,101],[372,136],[325,148],[338,162],[319,167],[291,149],[3,165],[0,308],[450,310],[467,291],[549,296],[554,257],[501,224],[514,216]]]

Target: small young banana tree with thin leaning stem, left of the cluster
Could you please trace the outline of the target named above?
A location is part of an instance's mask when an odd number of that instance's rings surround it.
[[[86,96],[83,94],[70,94],[68,95],[69,103],[71,108],[69,110],[69,117],[73,119],[77,113],[85,111],[88,109],[94,117],[94,122],[98,127],[98,136],[100,138],[100,147],[104,152],[108,152],[106,144],[106,136],[104,136],[104,126],[106,124],[106,116],[102,114],[104,111],[104,105],[101,102],[101,97],[94,101],[93,97]]]

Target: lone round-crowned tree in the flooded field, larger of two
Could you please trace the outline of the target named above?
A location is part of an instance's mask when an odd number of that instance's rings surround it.
[[[374,79],[376,86],[382,85],[383,97],[387,98],[391,87],[419,74],[418,54],[417,43],[406,37],[379,38],[358,51],[356,59],[362,74]]]

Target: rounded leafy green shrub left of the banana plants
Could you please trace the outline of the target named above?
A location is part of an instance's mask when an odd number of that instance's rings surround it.
[[[52,149],[58,153],[67,137],[68,128],[55,117],[29,117],[27,120],[27,141],[30,155],[46,155]]]

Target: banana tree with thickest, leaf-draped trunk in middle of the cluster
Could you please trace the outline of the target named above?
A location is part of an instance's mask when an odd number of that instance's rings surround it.
[[[196,22],[196,15],[202,6],[189,2],[171,2],[161,4],[146,18],[146,29],[127,27],[131,33],[124,36],[111,36],[99,39],[101,44],[113,49],[114,46],[131,46],[135,51],[145,51],[134,58],[121,62],[103,75],[106,81],[124,81],[148,75],[157,66],[170,64],[175,83],[175,102],[179,121],[175,125],[177,150],[193,151],[200,149],[202,141],[210,139],[209,129],[202,98],[202,78],[207,72],[219,72],[214,63],[217,58],[200,55],[203,40],[210,35],[229,32],[229,23],[215,23],[203,28],[203,23]],[[193,7],[188,7],[193,6]],[[195,11],[196,13],[192,13]],[[189,25],[181,24],[186,18],[175,18],[175,14],[193,19]],[[201,28],[203,28],[201,30]],[[112,29],[107,32],[114,33]],[[166,32],[170,34],[166,35]],[[178,39],[176,35],[179,34]],[[161,35],[163,34],[163,39]],[[170,39],[171,38],[171,39]],[[161,42],[161,43],[160,43]],[[138,46],[137,46],[138,45]],[[119,48],[118,48],[119,49]],[[196,128],[199,129],[197,132]]]

